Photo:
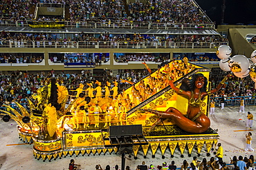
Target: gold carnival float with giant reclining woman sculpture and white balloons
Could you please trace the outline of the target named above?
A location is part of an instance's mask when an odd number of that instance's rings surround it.
[[[246,56],[231,56],[231,48],[221,45],[217,56],[221,70],[256,80],[256,52],[251,61]],[[145,66],[147,67],[146,63]],[[15,102],[17,109],[3,105],[3,121],[17,123],[19,138],[33,145],[37,160],[55,160],[66,156],[84,156],[129,151],[134,158],[138,151],[144,157],[151,149],[152,157],[166,149],[172,157],[185,150],[208,155],[219,138],[210,128],[209,95],[217,92],[226,78],[210,89],[210,69],[188,62],[171,61],[155,72],[118,93],[118,83],[95,81],[80,84],[70,94],[54,78],[27,98],[29,106]],[[255,81],[256,82],[256,81]],[[102,93],[102,87],[104,92]],[[186,151],[187,152],[187,151]]]

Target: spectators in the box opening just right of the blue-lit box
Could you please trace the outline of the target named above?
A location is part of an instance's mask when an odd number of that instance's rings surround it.
[[[164,61],[168,61],[170,59],[170,54],[154,54],[154,53],[135,53],[135,54],[122,54],[117,55],[118,53],[113,55],[113,59],[117,63],[128,63],[128,61],[152,61],[155,63],[163,63]]]

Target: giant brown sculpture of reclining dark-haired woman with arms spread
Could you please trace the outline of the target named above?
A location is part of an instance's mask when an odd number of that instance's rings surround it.
[[[166,111],[157,111],[151,109],[140,109],[156,114],[160,118],[152,127],[161,123],[161,119],[171,118],[173,123],[178,125],[184,131],[191,133],[202,133],[210,127],[210,119],[204,114],[201,104],[204,97],[221,89],[228,76],[223,78],[216,89],[206,92],[207,78],[203,74],[193,74],[192,79],[185,78],[181,87],[175,87],[170,79],[170,86],[177,94],[188,96],[188,112],[182,114],[181,111],[174,107],[168,108]]]

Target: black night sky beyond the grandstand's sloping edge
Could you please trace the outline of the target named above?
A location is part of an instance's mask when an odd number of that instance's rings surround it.
[[[221,6],[223,0],[195,0],[208,17],[217,25],[221,23]],[[225,0],[224,23],[253,23],[256,25],[256,0]]]

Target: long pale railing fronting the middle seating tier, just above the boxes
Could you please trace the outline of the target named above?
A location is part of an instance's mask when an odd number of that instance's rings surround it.
[[[228,45],[228,42],[0,40],[0,47],[8,48],[217,48],[219,45]]]

